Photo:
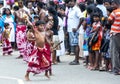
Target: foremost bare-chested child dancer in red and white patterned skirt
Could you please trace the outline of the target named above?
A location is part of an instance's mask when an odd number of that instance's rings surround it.
[[[25,79],[29,81],[30,72],[34,74],[39,74],[46,71],[45,76],[49,78],[48,71],[50,69],[50,45],[45,40],[44,22],[37,21],[35,23],[35,28],[33,28],[33,34],[35,39],[35,49],[30,55],[30,60],[28,62],[28,69],[25,74]]]

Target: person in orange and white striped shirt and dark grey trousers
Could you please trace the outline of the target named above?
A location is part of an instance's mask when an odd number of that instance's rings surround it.
[[[120,0],[114,0],[117,6],[109,16],[108,20],[111,26],[110,55],[112,59],[112,68],[115,75],[120,75]]]

